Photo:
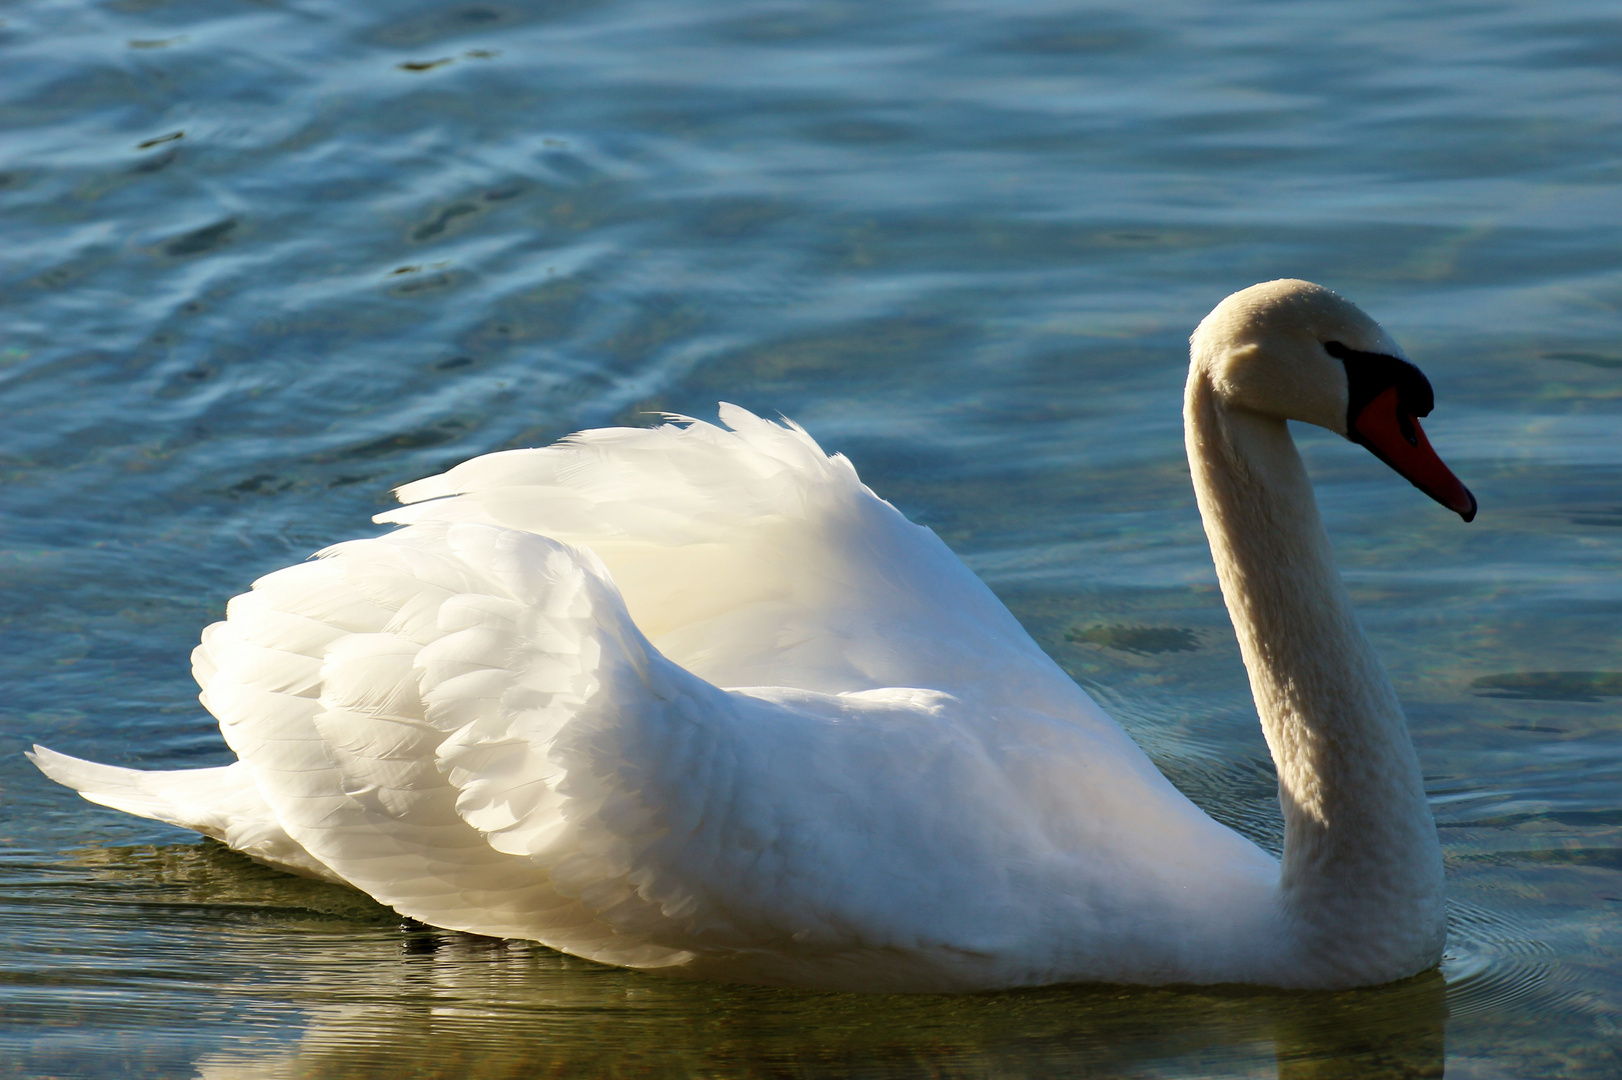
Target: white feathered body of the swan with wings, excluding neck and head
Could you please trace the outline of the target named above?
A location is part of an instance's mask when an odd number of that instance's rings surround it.
[[[848,462],[722,415],[475,459],[232,600],[195,671],[256,855],[631,966],[1226,978],[1272,859]]]

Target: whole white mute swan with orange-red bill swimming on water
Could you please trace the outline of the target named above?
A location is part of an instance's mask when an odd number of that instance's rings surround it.
[[[1414,975],[1444,944],[1435,827],[1285,420],[1465,521],[1474,498],[1416,420],[1429,383],[1333,292],[1238,292],[1191,355],[1281,864],[848,461],[733,405],[727,428],[475,457],[402,486],[378,517],[401,529],[256,581],[193,654],[235,764],[34,762],[425,923],[634,968],[858,991]]]

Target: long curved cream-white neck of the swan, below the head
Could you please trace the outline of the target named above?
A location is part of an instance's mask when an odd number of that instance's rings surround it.
[[[1293,958],[1348,983],[1435,963],[1442,856],[1401,705],[1335,569],[1283,420],[1226,409],[1199,365],[1194,490],[1285,814],[1280,903]]]

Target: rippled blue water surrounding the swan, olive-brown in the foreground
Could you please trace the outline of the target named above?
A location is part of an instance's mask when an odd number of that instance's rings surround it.
[[[1622,1070],[1614,5],[0,5],[0,1075]],[[782,410],[1197,801],[1278,843],[1182,462],[1184,341],[1328,284],[1470,527],[1302,431],[1442,827],[1439,975],[1356,994],[691,986],[401,926],[89,806],[227,752],[198,629],[388,490]]]

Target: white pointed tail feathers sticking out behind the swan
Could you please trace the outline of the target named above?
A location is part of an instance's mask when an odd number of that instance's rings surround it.
[[[281,871],[344,884],[276,822],[243,762],[149,772],[70,757],[47,746],[34,746],[28,759],[91,803],[201,832]]]

